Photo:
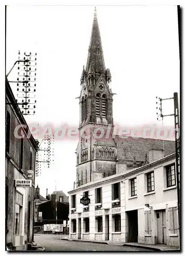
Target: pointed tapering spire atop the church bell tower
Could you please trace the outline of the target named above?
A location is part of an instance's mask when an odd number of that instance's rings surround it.
[[[105,65],[103,58],[103,50],[101,46],[101,37],[98,26],[96,7],[94,9],[94,19],[89,45],[89,53],[86,64],[86,72],[91,73],[92,70],[97,74],[105,74]]]

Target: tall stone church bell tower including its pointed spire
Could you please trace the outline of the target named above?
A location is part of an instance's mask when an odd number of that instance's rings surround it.
[[[96,8],[86,67],[81,75],[79,131],[89,129],[89,137],[82,136],[76,149],[76,185],[116,173],[117,147],[114,139],[94,136],[100,129],[113,129],[113,93],[111,72],[105,68]]]

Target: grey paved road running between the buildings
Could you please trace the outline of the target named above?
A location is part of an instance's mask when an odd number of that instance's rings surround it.
[[[57,234],[35,234],[34,236],[37,246],[43,246],[46,251],[151,251],[128,246],[65,241],[60,238],[62,235]]]

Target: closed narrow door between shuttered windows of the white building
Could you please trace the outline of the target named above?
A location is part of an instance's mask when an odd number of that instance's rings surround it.
[[[166,244],[166,210],[156,211],[157,243]]]

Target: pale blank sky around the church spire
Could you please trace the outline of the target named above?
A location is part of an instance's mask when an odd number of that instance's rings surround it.
[[[98,6],[105,67],[111,70],[114,123],[121,126],[161,125],[155,97],[179,94],[179,47],[176,6]],[[80,78],[86,65],[94,6],[7,7],[6,71],[20,52],[37,52],[36,114],[29,124],[77,127]],[[9,80],[16,80],[16,68]],[[16,95],[15,84],[11,84]],[[164,101],[163,114],[173,113]],[[164,125],[173,126],[173,117]],[[46,196],[73,188],[77,140],[56,140],[54,164],[36,178]]]

